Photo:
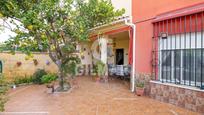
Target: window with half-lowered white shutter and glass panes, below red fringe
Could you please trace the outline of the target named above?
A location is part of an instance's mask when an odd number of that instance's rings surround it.
[[[200,38],[198,32],[159,40],[160,81],[196,87],[204,85],[204,44]]]

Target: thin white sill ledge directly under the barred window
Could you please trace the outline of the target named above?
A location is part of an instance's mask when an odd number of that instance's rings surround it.
[[[204,90],[201,90],[200,88],[191,87],[191,86],[185,86],[185,85],[179,85],[179,84],[177,85],[177,84],[172,84],[172,83],[162,83],[160,81],[150,81],[150,83],[155,83],[155,84],[161,84],[161,85],[167,85],[167,86],[172,86],[172,87],[178,87],[178,88],[183,88],[183,89],[189,89],[189,90],[204,92]]]

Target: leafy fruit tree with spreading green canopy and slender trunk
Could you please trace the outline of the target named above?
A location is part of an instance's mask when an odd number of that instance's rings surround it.
[[[77,43],[87,40],[98,23],[109,23],[124,13],[115,10],[110,0],[1,0],[0,6],[0,18],[15,25],[7,28],[17,34],[7,46],[28,55],[34,49],[48,51],[61,81],[64,67],[79,62]]]

